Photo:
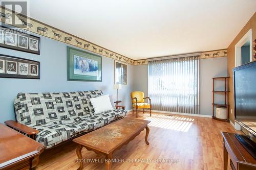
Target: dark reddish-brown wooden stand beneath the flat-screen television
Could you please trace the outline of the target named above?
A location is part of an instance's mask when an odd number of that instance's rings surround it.
[[[256,159],[243,147],[236,134],[229,132],[221,132],[221,134],[223,136],[224,170],[228,169],[228,160],[230,160],[232,170],[256,169]]]

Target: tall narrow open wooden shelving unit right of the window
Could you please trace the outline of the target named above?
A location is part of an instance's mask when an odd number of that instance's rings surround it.
[[[223,121],[223,122],[229,122],[229,119],[228,119],[228,115],[229,115],[229,78],[230,77],[215,77],[215,78],[212,78],[212,83],[213,83],[213,88],[212,88],[212,118],[216,119],[216,120],[220,120],[220,121]],[[223,79],[224,80],[224,84],[225,84],[225,87],[224,87],[224,90],[215,90],[215,81],[216,80],[219,80],[219,79]],[[215,93],[224,93],[224,96],[225,96],[225,102],[223,104],[220,104],[220,103],[215,103]],[[214,114],[214,111],[215,111],[215,107],[216,106],[221,106],[221,107],[226,107],[227,108],[227,119],[220,119],[220,118],[217,118]]]

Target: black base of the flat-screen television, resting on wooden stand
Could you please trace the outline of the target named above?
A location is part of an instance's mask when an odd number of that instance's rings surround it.
[[[254,159],[256,159],[256,143],[250,139],[249,136],[235,134],[243,147],[248,151]]]

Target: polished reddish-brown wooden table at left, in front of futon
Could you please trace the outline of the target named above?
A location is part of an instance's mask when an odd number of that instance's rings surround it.
[[[0,169],[35,169],[45,146],[0,124]]]

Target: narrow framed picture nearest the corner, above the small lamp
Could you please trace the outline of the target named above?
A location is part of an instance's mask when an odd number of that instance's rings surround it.
[[[127,85],[127,64],[116,60],[114,63],[114,84]]]

